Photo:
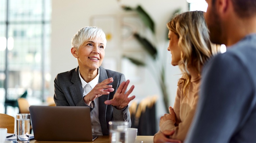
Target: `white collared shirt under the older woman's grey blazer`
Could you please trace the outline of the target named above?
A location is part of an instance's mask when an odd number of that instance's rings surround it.
[[[98,74],[97,76],[90,81],[89,83],[85,82],[83,78],[80,75],[80,69],[79,69],[79,77],[82,83],[83,88],[83,97],[87,95],[97,84],[99,81],[99,68],[98,68]],[[99,109],[98,109],[98,98],[94,100],[95,107],[93,111],[91,112],[91,121],[92,121],[92,133],[93,135],[102,135],[101,126],[99,122]]]

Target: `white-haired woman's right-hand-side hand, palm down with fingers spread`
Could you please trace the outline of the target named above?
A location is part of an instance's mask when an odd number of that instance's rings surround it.
[[[113,106],[116,106],[117,109],[119,110],[126,107],[129,104],[129,102],[135,98],[135,95],[128,98],[128,96],[131,94],[131,92],[134,89],[134,85],[132,85],[132,87],[125,93],[129,83],[130,83],[130,80],[127,80],[126,82],[122,82],[120,86],[117,88],[117,92],[115,93],[114,98],[111,100],[107,100],[104,103],[107,105],[111,104]]]

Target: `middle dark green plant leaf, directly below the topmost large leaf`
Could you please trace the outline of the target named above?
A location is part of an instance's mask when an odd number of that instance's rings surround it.
[[[138,33],[134,33],[134,37],[139,43],[143,46],[143,48],[150,54],[153,59],[156,59],[157,49],[145,38],[139,36]]]

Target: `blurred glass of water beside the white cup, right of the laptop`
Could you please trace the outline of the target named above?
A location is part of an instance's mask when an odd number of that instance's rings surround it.
[[[126,143],[127,136],[127,121],[109,121],[109,130],[111,143]]]

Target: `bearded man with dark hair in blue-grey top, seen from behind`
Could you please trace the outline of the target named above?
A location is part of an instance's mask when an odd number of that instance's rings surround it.
[[[256,0],[206,0],[213,43],[227,51],[203,68],[185,142],[256,142]]]

